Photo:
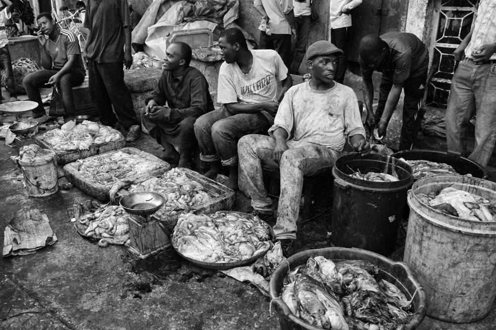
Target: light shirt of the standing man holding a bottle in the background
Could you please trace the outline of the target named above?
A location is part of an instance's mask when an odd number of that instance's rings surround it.
[[[254,0],[253,6],[262,5],[269,16],[267,26],[273,34],[291,34],[291,26],[286,19],[287,13],[293,10],[293,0]],[[259,30],[262,31],[261,28]]]

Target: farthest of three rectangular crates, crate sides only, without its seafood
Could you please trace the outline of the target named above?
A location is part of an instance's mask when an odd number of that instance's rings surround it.
[[[108,143],[103,144],[92,144],[88,150],[56,150],[54,147],[43,140],[43,135],[35,136],[33,140],[41,146],[43,149],[54,150],[57,155],[57,163],[64,165],[68,163],[72,163],[78,159],[84,159],[91,156],[95,156],[104,152],[121,149],[125,146],[125,138],[122,138],[118,141],[110,141]]]

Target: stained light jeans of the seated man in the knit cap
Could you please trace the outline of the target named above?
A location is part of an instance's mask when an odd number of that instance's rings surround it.
[[[287,141],[286,150],[277,165],[273,160],[275,141],[263,135],[248,135],[238,143],[240,155],[239,186],[251,198],[257,211],[272,210],[272,200],[263,186],[262,162],[279,167],[281,194],[277,206],[276,238],[296,238],[296,221],[300,213],[303,176],[318,176],[329,171],[336,161],[336,153],[319,144]]]

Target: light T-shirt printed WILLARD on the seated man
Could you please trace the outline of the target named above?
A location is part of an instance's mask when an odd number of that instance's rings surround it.
[[[251,50],[253,64],[248,74],[244,74],[238,63],[222,63],[219,70],[217,102],[260,103],[277,100],[279,90],[277,80],[288,76],[288,68],[281,56],[271,49]],[[261,112],[270,123],[274,117],[266,111]]]

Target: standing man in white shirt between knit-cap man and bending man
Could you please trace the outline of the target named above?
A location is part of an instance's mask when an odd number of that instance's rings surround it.
[[[348,43],[347,33],[351,26],[350,10],[362,3],[362,0],[330,0],[329,4],[329,26],[331,43],[343,50],[341,55],[338,55],[338,67],[336,78],[334,81],[343,84],[346,66],[348,65],[348,57],[346,47]]]

